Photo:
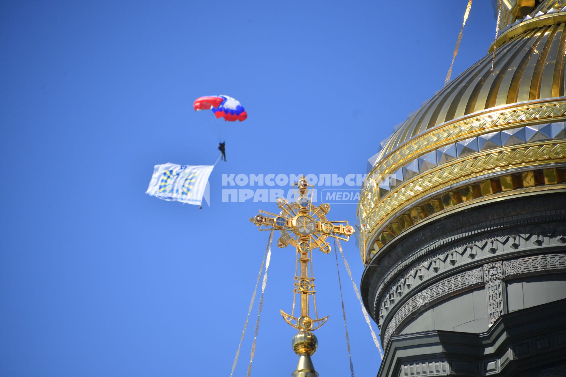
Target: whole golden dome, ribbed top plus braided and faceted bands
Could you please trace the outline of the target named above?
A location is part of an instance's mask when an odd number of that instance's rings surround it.
[[[364,263],[439,216],[564,185],[566,7],[556,3],[519,20],[507,8],[494,72],[488,54],[381,143],[358,206]]]

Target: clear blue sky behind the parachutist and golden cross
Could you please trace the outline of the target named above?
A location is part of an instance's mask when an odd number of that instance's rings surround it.
[[[443,86],[466,3],[1,2],[0,375],[229,375],[268,237],[247,219],[275,204],[222,202],[222,174],[365,173]],[[453,77],[494,33],[491,4],[474,2]],[[145,195],[155,164],[216,161],[192,110],[210,94],[248,112],[230,125],[211,206]],[[355,205],[329,219],[353,223]],[[354,242],[344,249],[359,283]],[[348,375],[335,257],[314,257],[330,315],[314,365]],[[252,375],[295,369],[279,314],[293,264],[294,250],[273,248]],[[342,265],[341,278],[354,370],[375,375]]]

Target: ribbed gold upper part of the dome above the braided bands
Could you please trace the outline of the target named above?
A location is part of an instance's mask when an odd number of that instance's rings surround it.
[[[494,73],[488,54],[451,81],[393,133],[383,155],[428,129],[474,112],[564,96],[566,12],[554,18],[556,24],[530,29],[496,50]]]

